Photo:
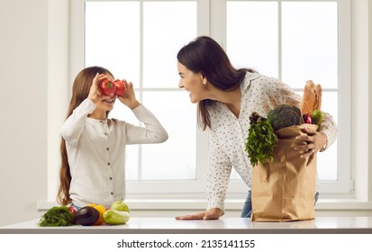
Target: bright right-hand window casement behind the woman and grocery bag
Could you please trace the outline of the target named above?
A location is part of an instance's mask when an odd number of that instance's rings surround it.
[[[299,94],[306,80],[321,83],[322,110],[330,112],[340,128],[346,129],[341,142],[349,142],[346,132],[350,130],[349,115],[339,114],[350,105],[350,97],[341,90],[348,87],[340,81],[349,79],[350,68],[339,64],[340,58],[350,54],[349,31],[339,29],[342,21],[349,20],[340,12],[345,2],[228,0],[226,33],[222,33],[235,66],[277,76]],[[345,37],[348,39],[340,40]],[[339,105],[340,98],[346,103]],[[336,141],[318,155],[318,174],[325,192],[349,193],[350,160],[340,163],[338,153],[342,151]]]

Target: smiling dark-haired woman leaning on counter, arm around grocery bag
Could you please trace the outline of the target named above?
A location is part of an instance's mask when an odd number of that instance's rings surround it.
[[[224,213],[224,200],[234,167],[251,187],[250,161],[245,141],[250,127],[250,114],[267,115],[280,103],[300,107],[301,95],[276,78],[262,76],[248,68],[232,67],[222,47],[202,36],[177,53],[179,87],[198,103],[199,126],[209,130],[210,148],[207,172],[208,208],[196,214],[177,216],[177,220],[213,220]],[[337,137],[337,125],[325,113],[318,131],[306,130],[304,145],[294,147],[302,157],[328,148]],[[315,195],[317,197],[317,194]],[[241,217],[250,217],[250,190]]]

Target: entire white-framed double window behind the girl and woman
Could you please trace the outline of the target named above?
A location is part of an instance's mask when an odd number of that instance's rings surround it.
[[[341,29],[349,27],[348,3],[73,1],[70,79],[83,67],[109,68],[115,77],[133,82],[139,100],[169,133],[166,143],[128,148],[128,196],[204,198],[208,139],[197,129],[195,104],[177,88],[176,67],[177,50],[197,35],[219,41],[236,67],[277,76],[300,94],[309,78],[322,84],[322,108],[342,131],[318,156],[322,190],[349,193],[350,68],[344,62],[350,58],[350,34]],[[111,116],[137,123],[120,103]],[[231,178],[229,195],[243,199],[245,185],[236,173]]]

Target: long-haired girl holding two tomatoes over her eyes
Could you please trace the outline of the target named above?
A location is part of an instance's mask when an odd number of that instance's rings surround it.
[[[62,164],[57,201],[77,210],[89,203],[110,208],[125,198],[125,145],[161,143],[167,131],[157,118],[139,103],[132,83],[122,96],[103,95],[98,84],[113,74],[104,67],[86,67],[74,81],[68,115],[60,134]],[[116,98],[132,109],[145,127],[108,119]]]

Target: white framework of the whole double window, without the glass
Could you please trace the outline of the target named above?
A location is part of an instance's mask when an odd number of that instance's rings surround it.
[[[94,1],[94,0],[93,0]],[[151,1],[151,0],[146,0]],[[304,0],[305,1],[305,0]],[[69,36],[68,36],[68,97],[70,97],[71,85],[73,83],[74,77],[77,72],[84,67],[84,3],[85,0],[77,0],[69,2]],[[277,1],[282,2],[282,1]],[[340,116],[343,114],[349,115],[350,111],[350,85],[351,74],[350,74],[350,62],[351,62],[351,52],[350,52],[350,37],[351,37],[351,27],[350,27],[350,1],[349,0],[339,0],[340,5],[340,26],[344,25],[345,29],[340,29],[340,51],[344,52],[339,54],[340,58],[340,95],[339,100],[343,103],[339,103]],[[222,44],[225,44],[225,0],[213,0],[213,1],[197,1],[198,3],[198,14],[197,18],[198,27],[197,34],[199,35],[210,35],[215,40]],[[71,25],[74,23],[74,25]],[[343,27],[343,26],[342,26]],[[341,32],[342,31],[342,32]],[[345,53],[347,52],[347,53]],[[349,69],[348,71],[342,71],[341,69]],[[344,101],[349,101],[344,103]],[[67,105],[66,105],[67,108]],[[63,115],[62,115],[63,117]],[[343,134],[343,138],[339,140],[339,167],[340,165],[345,166],[339,168],[340,179],[335,184],[334,182],[322,182],[322,188],[329,193],[329,195],[337,194],[339,196],[351,197],[352,193],[352,183],[350,183],[351,174],[351,158],[349,155],[350,147],[350,129],[351,122],[349,120],[339,119],[342,123],[339,123],[340,132]],[[348,122],[349,121],[349,122]],[[196,125],[195,125],[196,127]],[[141,182],[141,184],[135,182],[128,182],[127,193],[128,198],[149,198],[149,193],[151,197],[157,198],[203,198],[205,193],[205,170],[207,167],[207,153],[208,148],[204,144],[199,145],[199,143],[208,142],[207,133],[197,129],[196,131],[197,145],[201,146],[197,150],[196,163],[197,167],[197,180],[196,181],[185,181],[180,185],[179,181],[147,181]],[[339,183],[340,182],[340,183]],[[166,184],[165,184],[166,183]],[[51,183],[53,184],[53,183]],[[160,184],[160,186],[159,186]],[[163,185],[161,185],[163,184]],[[49,186],[50,187],[50,186]],[[169,193],[169,188],[172,188],[172,192]],[[176,188],[176,189],[175,189]],[[175,190],[174,190],[175,189]],[[336,189],[336,190],[335,190]],[[340,189],[340,190],[339,190]],[[241,181],[231,181],[229,184],[228,198],[232,199],[244,199],[246,195],[246,185]],[[50,195],[50,193],[49,193]]]

